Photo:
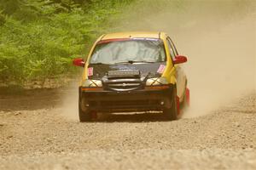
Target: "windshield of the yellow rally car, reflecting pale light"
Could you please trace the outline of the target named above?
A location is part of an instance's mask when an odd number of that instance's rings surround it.
[[[131,39],[96,45],[90,64],[113,65],[117,63],[163,62],[166,53],[160,39]]]

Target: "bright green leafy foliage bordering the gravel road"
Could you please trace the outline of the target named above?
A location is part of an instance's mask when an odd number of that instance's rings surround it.
[[[0,0],[0,82],[23,84],[73,73],[131,0]]]

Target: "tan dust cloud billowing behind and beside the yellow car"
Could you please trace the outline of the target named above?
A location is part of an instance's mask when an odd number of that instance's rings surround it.
[[[188,56],[191,105],[183,117],[202,116],[256,87],[255,1],[141,0],[127,8],[114,31],[165,31]],[[74,88],[75,87],[75,88]],[[77,89],[77,86],[73,86]],[[77,91],[64,99],[67,117],[78,117]]]

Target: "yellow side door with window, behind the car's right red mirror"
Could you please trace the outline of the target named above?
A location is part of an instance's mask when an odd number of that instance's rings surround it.
[[[167,37],[167,43],[169,47],[170,54],[172,56],[172,61],[177,56],[177,49],[175,48],[174,43],[170,37]],[[177,96],[179,97],[180,101],[183,100],[183,94],[186,87],[186,76],[181,67],[181,65],[174,65],[176,69],[176,80],[177,80]]]

